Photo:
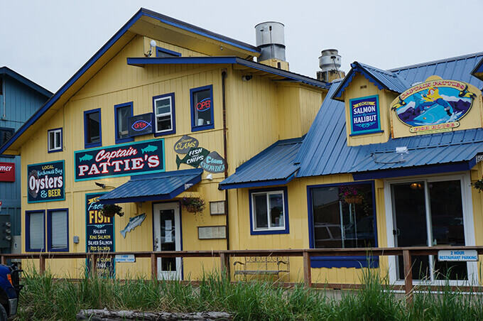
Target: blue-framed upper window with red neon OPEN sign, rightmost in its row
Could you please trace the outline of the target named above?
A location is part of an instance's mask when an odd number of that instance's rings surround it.
[[[213,124],[213,86],[190,89],[191,131],[215,128]]]

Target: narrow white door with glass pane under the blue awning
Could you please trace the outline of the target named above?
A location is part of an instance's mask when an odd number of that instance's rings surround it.
[[[153,221],[154,251],[181,251],[179,204],[155,204]],[[181,258],[158,258],[158,279],[181,279]]]

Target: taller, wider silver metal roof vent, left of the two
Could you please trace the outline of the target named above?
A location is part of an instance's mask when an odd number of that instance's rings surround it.
[[[285,36],[283,23],[267,21],[255,26],[256,47],[261,50],[259,62],[268,59],[285,60]]]

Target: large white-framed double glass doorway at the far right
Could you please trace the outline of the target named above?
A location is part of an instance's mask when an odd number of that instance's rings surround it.
[[[384,181],[389,247],[474,245],[470,174],[434,175]],[[440,262],[435,256],[412,258],[413,282],[475,285],[477,262]],[[389,280],[403,283],[402,258],[389,256]]]

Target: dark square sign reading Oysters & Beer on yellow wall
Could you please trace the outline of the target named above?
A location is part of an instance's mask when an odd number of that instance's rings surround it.
[[[27,165],[27,202],[65,200],[64,161]]]

